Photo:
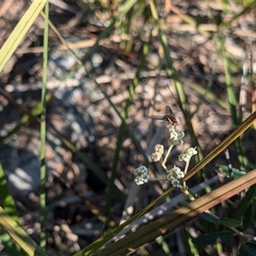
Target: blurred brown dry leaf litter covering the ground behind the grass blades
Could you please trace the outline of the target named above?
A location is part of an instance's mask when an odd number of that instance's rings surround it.
[[[117,137],[121,120],[88,73],[102,85],[111,102],[122,113],[127,105],[129,89],[131,90],[131,79],[136,77],[142,58],[143,46],[147,44],[151,34],[148,54],[139,72],[139,81],[126,119],[126,124],[148,155],[153,152],[154,145],[150,142],[157,140],[155,134],[161,131],[157,143],[163,139],[164,144],[167,135],[160,122],[152,122],[147,116],[164,114],[166,105],[172,107],[179,121],[179,128],[186,134],[185,143],[177,147],[174,154],[180,154],[192,143],[191,131],[183,117],[180,104],[186,104],[189,108],[189,119],[203,155],[207,155],[230,134],[232,118],[223,55],[230,61],[233,90],[239,101],[244,102],[239,105],[242,110],[241,119],[247,118],[251,113],[253,87],[247,79],[253,81],[253,74],[248,78],[247,73],[250,74],[254,66],[254,9],[247,9],[235,1],[230,1],[228,11],[225,4],[219,1],[157,1],[160,24],[187,96],[187,102],[180,102],[172,84],[172,77],[166,72],[166,59],[146,3],[142,13],[138,11],[141,5],[135,5],[133,12],[119,20],[89,55],[90,47],[109,26],[113,16],[117,15],[121,3],[83,3],[80,0],[49,2],[49,20],[57,26],[70,47],[83,60],[87,72],[82,67],[74,68],[76,64],[73,55],[60,43],[55,33],[49,30],[47,86],[54,95],[47,105],[47,122],[108,174],[108,177],[113,168],[113,160],[117,157],[115,148],[120,143],[119,160],[115,166],[115,184],[124,195],[129,195],[130,189],[135,188],[131,185],[133,170],[143,162],[143,155],[128,132],[125,131],[121,138]],[[0,3],[1,46],[28,6],[27,1],[3,0]],[[241,14],[242,10],[246,11]],[[15,55],[12,55],[0,73],[1,88],[8,91],[18,104],[29,109],[37,106],[40,101],[43,28],[44,19],[39,16]],[[220,47],[222,42],[224,53]],[[23,170],[32,178],[31,183],[35,183],[27,190],[21,185],[17,189],[14,183],[10,186],[17,200],[21,224],[37,241],[39,180],[34,173],[39,172],[40,165],[39,126],[31,121],[19,127],[22,111],[3,95],[0,95],[0,102],[0,135],[4,138],[0,145],[0,160],[9,177],[15,176],[12,173],[17,175]],[[240,108],[237,105],[237,111]],[[16,126],[18,129],[9,134]],[[113,195],[111,202],[107,202],[107,184],[96,176],[91,170],[93,168],[84,164],[59,138],[50,134],[48,136],[47,253],[71,255],[95,241],[102,232],[102,223],[84,200],[93,202],[102,212],[106,211],[104,207],[110,203],[108,214],[116,224],[124,211],[125,201],[121,201],[118,195]],[[247,131],[242,142],[247,160],[255,164],[253,131]],[[234,145],[230,147],[230,155],[232,164],[238,167]],[[175,159],[173,156],[168,164],[180,166]],[[224,155],[220,155],[207,166],[207,177],[215,175],[212,167],[216,163],[225,163]],[[155,167],[160,173],[163,172],[159,166]],[[191,181],[191,186],[195,183],[196,178]],[[168,183],[163,184],[164,189],[168,186]],[[141,201],[137,203],[137,210],[147,206],[162,190],[154,183],[148,183],[141,193],[143,194]],[[194,222],[191,226],[201,230],[198,223]],[[183,232],[184,230],[181,233]],[[174,253],[184,253],[176,246],[179,239],[177,235],[166,236],[166,241]],[[145,248],[149,255],[166,255],[155,242]],[[212,247],[199,248],[201,255],[210,255],[212,250]],[[230,253],[228,244],[224,244],[224,253]]]

